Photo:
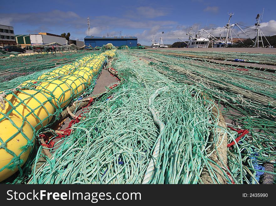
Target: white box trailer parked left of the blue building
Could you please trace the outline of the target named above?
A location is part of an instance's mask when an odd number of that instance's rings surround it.
[[[31,45],[37,44],[50,44],[57,42],[62,45],[66,45],[66,39],[58,36],[50,36],[45,34],[30,34]]]

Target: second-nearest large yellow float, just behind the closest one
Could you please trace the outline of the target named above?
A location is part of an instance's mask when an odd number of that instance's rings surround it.
[[[24,90],[15,95],[9,94],[6,99],[10,103],[5,101],[5,109],[0,108],[0,112],[19,119],[25,117],[36,130],[48,124],[55,112],[51,104],[52,98],[35,90]]]

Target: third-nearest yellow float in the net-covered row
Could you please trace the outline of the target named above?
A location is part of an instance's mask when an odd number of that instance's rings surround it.
[[[36,89],[51,95],[56,107],[60,105],[60,108],[63,108],[69,104],[72,99],[72,87],[65,81],[59,79],[41,82]]]

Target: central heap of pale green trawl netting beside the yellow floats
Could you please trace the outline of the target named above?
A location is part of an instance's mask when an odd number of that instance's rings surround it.
[[[89,108],[29,183],[204,183],[203,170],[214,183],[232,182],[225,161],[208,158],[227,131],[200,87],[124,52],[113,67],[124,80]]]

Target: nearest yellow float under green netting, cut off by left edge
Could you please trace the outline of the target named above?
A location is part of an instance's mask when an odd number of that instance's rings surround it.
[[[12,176],[18,171],[19,166],[25,164],[33,148],[30,144],[31,140],[33,139],[33,144],[35,140],[34,131],[28,123],[23,124],[22,119],[17,117],[10,117],[10,119],[15,126],[9,119],[0,121],[0,139],[4,142],[0,141],[0,182]],[[13,138],[9,140],[11,137]],[[24,151],[26,146],[28,148]],[[6,151],[5,147],[14,154]],[[3,169],[4,167],[6,168]]]

